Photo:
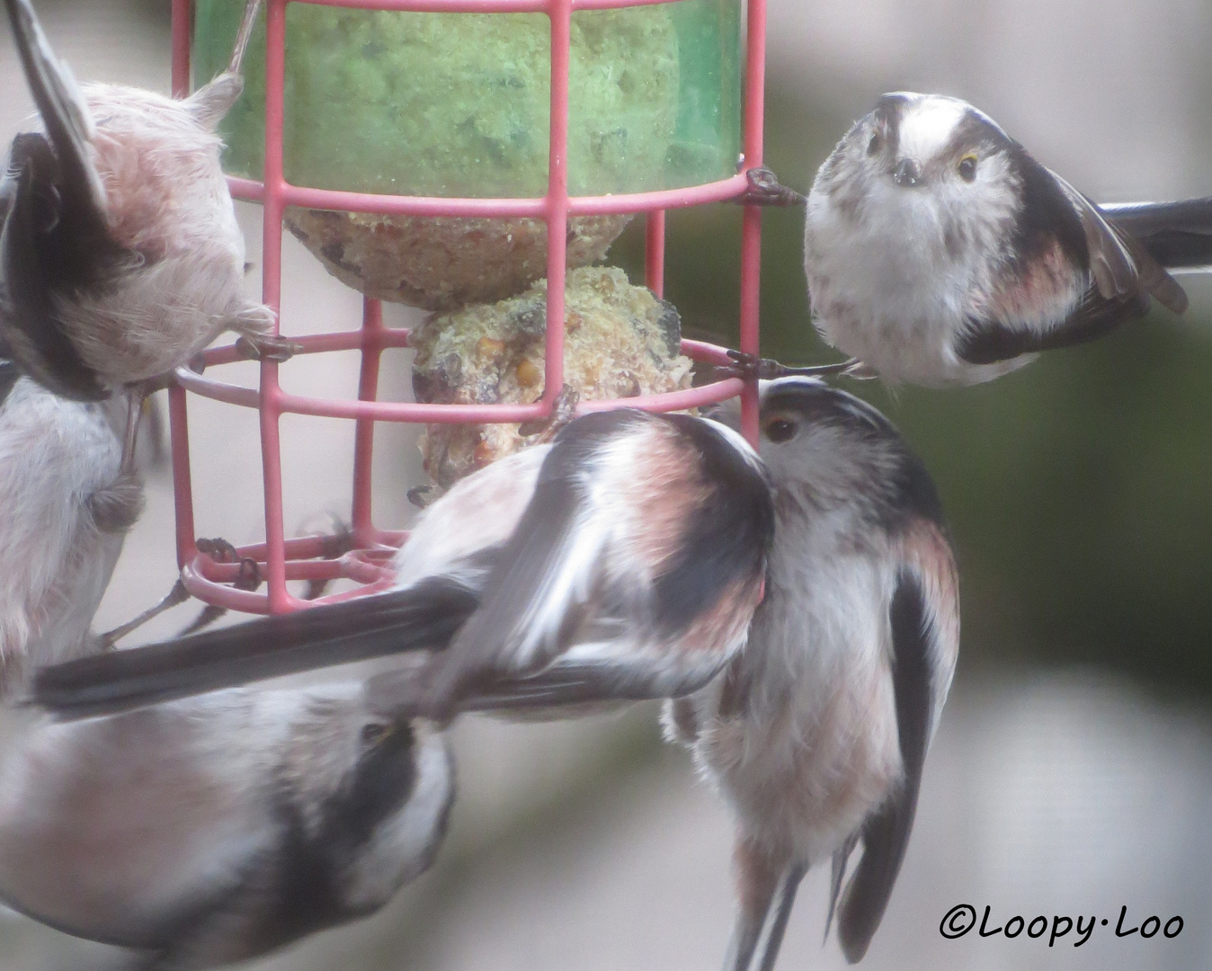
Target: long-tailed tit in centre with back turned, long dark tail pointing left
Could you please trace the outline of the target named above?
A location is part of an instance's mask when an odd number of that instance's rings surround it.
[[[419,669],[371,681],[384,710],[681,695],[744,645],[772,535],[765,469],[732,429],[588,415],[430,506],[391,593],[47,669],[33,701],[85,716],[418,649],[435,649]]]

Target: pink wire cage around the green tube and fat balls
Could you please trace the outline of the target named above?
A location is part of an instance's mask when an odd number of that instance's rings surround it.
[[[762,115],[766,62],[765,0],[748,0],[748,40],[744,75],[743,158],[737,175],[701,185],[661,192],[570,196],[567,173],[568,59],[572,13],[644,6],[680,0],[265,0],[265,156],[264,181],[229,178],[238,199],[259,201],[264,207],[262,255],[262,298],[280,308],[282,215],[286,206],[307,206],[349,212],[453,217],[533,217],[547,224],[547,327],[545,384],[533,404],[427,405],[378,401],[379,361],[383,350],[408,345],[408,331],[383,325],[378,301],[364,301],[362,325],[355,331],[293,338],[303,354],[333,350],[361,352],[356,400],[320,399],[284,392],[278,381],[279,364],[263,361],[258,388],[216,379],[210,371],[239,359],[234,345],[212,348],[205,354],[207,372],[182,367],[177,384],[168,390],[172,434],[172,470],[176,503],[177,562],[190,594],[210,604],[246,613],[284,613],[315,604],[361,596],[390,584],[390,554],[406,533],[375,526],[371,508],[371,468],[376,422],[531,422],[551,413],[564,384],[564,279],[566,269],[566,227],[572,216],[645,213],[645,284],[658,297],[664,290],[665,210],[721,202],[741,196],[748,188],[747,172],[762,164]],[[408,195],[373,195],[292,185],[282,176],[284,91],[286,76],[286,5],[307,2],[360,10],[468,13],[544,13],[550,21],[551,85],[550,133],[547,194],[538,199],[445,199]],[[191,0],[172,0],[172,91],[189,92]],[[745,206],[741,241],[741,350],[758,353],[758,303],[761,267],[761,209]],[[278,321],[278,326],[281,320]],[[698,341],[682,341],[687,356],[710,364],[727,364],[724,348]],[[188,396],[198,394],[259,412],[262,470],[264,478],[265,541],[241,547],[240,558],[256,560],[265,581],[265,593],[231,586],[239,562],[218,562],[199,552],[194,532],[194,501],[189,461]],[[640,407],[650,411],[679,411],[714,404],[741,395],[743,429],[750,441],[758,435],[758,388],[755,382],[736,378],[682,392],[608,401],[584,401],[577,411]],[[282,520],[282,473],[279,421],[282,415],[311,415],[354,421],[354,480],[350,509],[351,552],[326,556],[330,537],[307,536],[287,539]],[[360,586],[316,600],[293,596],[286,587],[295,579],[344,577]]]

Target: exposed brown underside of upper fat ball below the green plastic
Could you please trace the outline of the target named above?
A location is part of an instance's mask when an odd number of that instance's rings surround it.
[[[568,267],[600,263],[630,216],[568,219]],[[367,297],[453,310],[520,293],[547,273],[539,219],[421,218],[291,209],[286,225]]]

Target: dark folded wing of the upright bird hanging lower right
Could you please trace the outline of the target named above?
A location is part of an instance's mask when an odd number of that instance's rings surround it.
[[[862,960],[892,896],[933,729],[931,640],[921,584],[901,572],[892,598],[892,682],[904,782],[863,826],[863,856],[837,907],[837,937],[851,964]]]

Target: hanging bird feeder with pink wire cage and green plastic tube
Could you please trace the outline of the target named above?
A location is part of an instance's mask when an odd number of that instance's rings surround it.
[[[242,7],[242,0],[173,0],[175,95],[189,91],[191,59],[194,78],[202,82],[225,64]],[[599,258],[595,234],[617,235],[616,227],[642,215],[645,285],[659,297],[665,210],[738,199],[750,187],[747,172],[761,166],[764,0],[749,0],[747,19],[742,70],[741,0],[265,0],[264,33],[253,38],[245,65],[246,92],[223,131],[224,167],[233,195],[264,209],[267,304],[280,307],[284,225],[366,295],[358,330],[292,337],[291,321],[279,320],[280,332],[296,339],[303,354],[359,350],[359,392],[354,400],[290,394],[278,375],[290,361],[263,361],[258,387],[225,382],[222,365],[240,359],[230,345],[206,352],[205,373],[177,371],[170,390],[177,556],[194,596],[250,613],[281,613],[389,586],[388,562],[405,535],[375,525],[375,423],[539,422],[551,416],[564,383],[570,262]],[[468,296],[444,290],[440,274],[383,285],[379,270],[400,265],[400,259],[362,258],[368,251],[349,245],[348,235],[338,240],[338,252],[325,235],[353,232],[358,239],[376,219],[390,219],[412,234],[401,252],[410,246],[412,252],[439,252],[450,257],[447,269],[465,250],[481,267],[496,265],[493,261],[503,265],[497,276],[507,289],[519,289],[527,275],[545,276],[539,400],[377,400],[382,353],[408,347],[410,338],[407,330],[384,326],[379,298],[436,309]],[[542,244],[539,273],[533,270],[534,238]],[[739,331],[747,353],[758,352],[760,245],[761,211],[745,206]],[[490,267],[475,279],[496,279],[494,272]],[[728,362],[724,348],[702,342],[682,341],[681,352],[698,361]],[[198,549],[188,447],[191,394],[259,412],[265,539],[238,552],[259,565],[264,593],[229,586],[239,579],[240,564],[219,562]],[[745,433],[754,440],[756,388],[736,378],[582,401],[578,412],[621,406],[678,411],[738,394]],[[326,555],[333,537],[285,535],[284,413],[353,423],[349,552]],[[293,579],[338,577],[360,586],[314,601],[286,587]]]

